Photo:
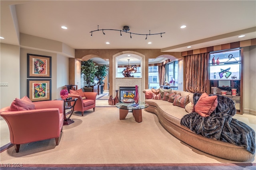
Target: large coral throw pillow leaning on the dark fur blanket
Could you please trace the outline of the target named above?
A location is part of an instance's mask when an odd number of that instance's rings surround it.
[[[218,99],[216,95],[208,96],[207,93],[203,93],[198,99],[194,111],[202,117],[208,117],[216,109],[217,105]]]

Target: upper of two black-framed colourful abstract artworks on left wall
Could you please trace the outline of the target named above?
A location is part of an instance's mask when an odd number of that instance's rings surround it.
[[[27,54],[28,78],[51,78],[52,57]]]

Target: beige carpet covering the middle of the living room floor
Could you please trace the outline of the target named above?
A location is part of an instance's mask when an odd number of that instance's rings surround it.
[[[239,163],[218,158],[179,141],[153,113],[142,111],[137,123],[128,113],[119,120],[116,107],[74,113],[74,123],[63,126],[58,146],[54,139],[11,147],[0,153],[1,164],[219,164]],[[243,162],[246,163],[246,162]],[[248,161],[256,163],[256,160]]]

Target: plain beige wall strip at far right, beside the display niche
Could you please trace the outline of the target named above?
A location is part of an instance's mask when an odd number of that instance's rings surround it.
[[[244,47],[244,113],[256,115],[256,45]]]

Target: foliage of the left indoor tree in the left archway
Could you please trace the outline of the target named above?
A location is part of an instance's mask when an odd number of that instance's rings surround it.
[[[95,74],[98,70],[98,65],[93,63],[92,60],[83,61],[81,63],[81,73],[83,75],[83,79],[86,82],[86,87],[91,88],[91,84],[94,82]]]

